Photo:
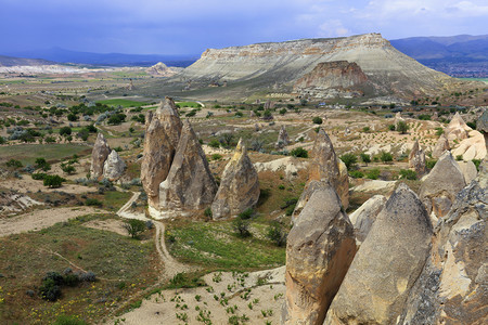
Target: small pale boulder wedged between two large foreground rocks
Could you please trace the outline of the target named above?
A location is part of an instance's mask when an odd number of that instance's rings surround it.
[[[355,227],[356,240],[364,242],[377,214],[383,210],[386,204],[386,197],[383,195],[374,195],[362,204],[350,216],[350,222]]]

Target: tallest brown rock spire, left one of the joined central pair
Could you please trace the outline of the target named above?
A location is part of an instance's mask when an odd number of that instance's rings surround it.
[[[175,102],[170,98],[165,98],[154,114],[150,112],[145,121],[141,181],[149,205],[155,209],[159,204],[159,184],[168,176],[181,128]]]

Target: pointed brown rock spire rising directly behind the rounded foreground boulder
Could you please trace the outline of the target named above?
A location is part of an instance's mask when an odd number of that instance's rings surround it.
[[[293,212],[293,220],[298,217],[300,209],[305,207],[307,199],[313,193],[308,188],[313,181],[329,182],[334,186],[334,190],[341,197],[343,208],[346,210],[349,206],[349,180],[347,177],[347,168],[335,155],[332,141],[323,129],[320,129],[319,134],[316,138],[312,156],[308,182],[298,199],[295,211]],[[318,186],[318,184],[314,184],[314,187]]]

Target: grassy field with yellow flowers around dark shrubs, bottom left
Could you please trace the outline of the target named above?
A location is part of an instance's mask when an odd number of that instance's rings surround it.
[[[87,216],[39,232],[0,238],[0,323],[52,324],[62,314],[98,324],[157,282],[158,257],[153,240],[137,240],[86,227]],[[154,231],[146,231],[152,237]],[[69,263],[72,262],[72,263]],[[42,300],[38,287],[47,272],[76,266],[92,271],[98,281],[63,286],[55,302]],[[31,297],[26,295],[31,290]]]

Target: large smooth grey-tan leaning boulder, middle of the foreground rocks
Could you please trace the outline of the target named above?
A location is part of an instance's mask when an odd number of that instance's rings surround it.
[[[400,184],[356,253],[324,324],[397,324],[432,234],[422,202]]]

